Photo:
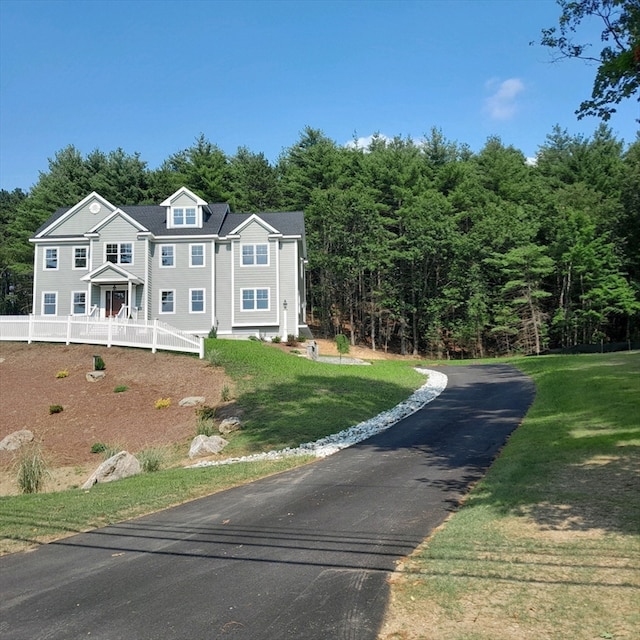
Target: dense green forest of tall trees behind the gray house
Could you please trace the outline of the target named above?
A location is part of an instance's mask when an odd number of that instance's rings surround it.
[[[204,135],[157,169],[66,147],[28,191],[0,191],[0,314],[31,309],[28,238],[91,191],[159,203],[185,185],[233,211],[305,214],[308,320],[319,337],[475,358],[640,340],[640,136],[555,127],[534,161],[432,129],[343,146],[306,128],[274,163]]]

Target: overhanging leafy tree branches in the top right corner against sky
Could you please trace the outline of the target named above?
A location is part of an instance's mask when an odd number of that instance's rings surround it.
[[[598,63],[591,99],[580,104],[578,118],[596,116],[609,120],[625,98],[640,88],[640,1],[558,0],[562,9],[558,27],[542,30],[540,44],[555,52],[555,60],[577,58]],[[591,53],[591,44],[578,44],[574,34],[584,20],[599,18],[604,28],[604,48]]]

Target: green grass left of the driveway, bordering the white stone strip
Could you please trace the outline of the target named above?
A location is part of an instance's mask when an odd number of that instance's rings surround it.
[[[280,449],[334,433],[389,409],[424,382],[408,362],[336,367],[261,342],[208,341],[212,345],[216,366],[224,366],[234,380],[234,402],[243,412],[243,430],[225,449],[230,456]],[[112,453],[113,447],[103,448],[103,455]],[[149,457],[150,466],[162,465],[155,454]],[[0,553],[167,508],[305,462],[295,458],[204,469],[160,468],[86,492],[2,497]]]

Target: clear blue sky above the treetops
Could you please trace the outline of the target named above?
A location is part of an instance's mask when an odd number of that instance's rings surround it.
[[[530,46],[555,0],[0,0],[0,188],[29,189],[69,144],[150,168],[203,133],[275,162],[306,126],[339,144],[432,127],[534,156],[595,67]],[[594,25],[587,41],[598,44]],[[638,102],[609,122],[633,142]]]

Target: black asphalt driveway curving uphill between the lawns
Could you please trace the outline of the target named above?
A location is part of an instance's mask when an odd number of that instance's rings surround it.
[[[535,394],[506,365],[438,370],[434,402],[324,460],[0,558],[0,636],[375,639],[390,573]]]

